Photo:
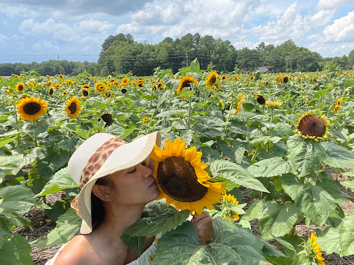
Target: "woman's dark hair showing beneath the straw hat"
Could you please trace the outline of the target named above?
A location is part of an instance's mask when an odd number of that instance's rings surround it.
[[[111,180],[106,177],[100,177],[96,180],[97,185],[109,186],[111,185]],[[104,218],[104,207],[102,200],[91,192],[91,216],[92,216],[92,230],[95,230],[103,221]]]

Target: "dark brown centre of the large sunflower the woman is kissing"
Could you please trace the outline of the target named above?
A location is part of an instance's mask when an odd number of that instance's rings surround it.
[[[194,167],[183,157],[167,157],[158,165],[158,184],[178,202],[196,202],[207,193],[207,187],[198,182]]]

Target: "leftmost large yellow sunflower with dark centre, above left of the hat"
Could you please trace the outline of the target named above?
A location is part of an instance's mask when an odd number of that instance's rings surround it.
[[[35,121],[41,115],[46,113],[48,107],[47,103],[44,100],[41,100],[39,97],[26,97],[25,99],[20,99],[17,106],[17,112],[21,119],[27,119],[28,121]]]

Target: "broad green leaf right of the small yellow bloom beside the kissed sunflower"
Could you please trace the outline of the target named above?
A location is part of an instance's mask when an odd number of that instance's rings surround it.
[[[281,237],[290,232],[301,212],[295,205],[278,204],[275,201],[263,204],[263,213],[259,217],[259,226],[264,240]]]

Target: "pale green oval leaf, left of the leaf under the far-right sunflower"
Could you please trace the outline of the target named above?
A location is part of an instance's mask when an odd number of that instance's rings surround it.
[[[254,163],[247,168],[254,177],[274,177],[289,173],[291,166],[287,161],[281,157],[272,157],[270,159],[263,159]]]

